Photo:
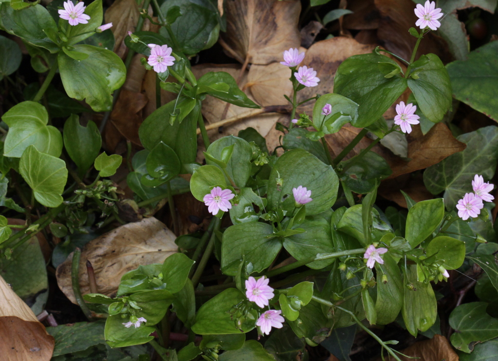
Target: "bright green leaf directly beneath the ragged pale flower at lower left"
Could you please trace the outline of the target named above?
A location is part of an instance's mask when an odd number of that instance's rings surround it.
[[[115,348],[142,345],[154,339],[154,336],[150,334],[155,331],[155,328],[143,324],[137,328],[133,326],[126,328],[123,323],[127,321],[128,319],[122,318],[121,315],[107,318],[104,336],[109,346]]]

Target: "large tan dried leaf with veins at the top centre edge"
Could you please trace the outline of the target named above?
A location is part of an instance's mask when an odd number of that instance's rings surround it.
[[[227,31],[222,46],[241,63],[268,64],[299,47],[299,0],[230,0],[225,2]]]

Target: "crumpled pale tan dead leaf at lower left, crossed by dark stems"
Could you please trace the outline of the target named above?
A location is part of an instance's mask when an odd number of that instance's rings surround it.
[[[95,271],[99,293],[116,295],[121,277],[139,265],[162,263],[177,252],[176,236],[154,217],[124,224],[95,238],[81,252],[79,280],[82,294],[90,293],[85,263],[89,260]],[[57,267],[59,288],[76,303],[71,283],[73,253]]]

